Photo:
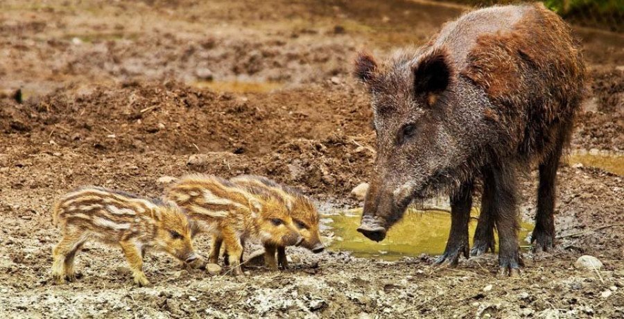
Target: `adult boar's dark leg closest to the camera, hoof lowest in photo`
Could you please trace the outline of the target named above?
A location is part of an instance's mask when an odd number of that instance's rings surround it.
[[[489,205],[499,232],[499,275],[517,277],[524,266],[518,244],[517,176],[514,164],[503,162],[485,169],[484,193],[492,194]]]

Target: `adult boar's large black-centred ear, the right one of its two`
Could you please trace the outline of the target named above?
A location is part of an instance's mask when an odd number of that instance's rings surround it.
[[[434,49],[422,55],[414,67],[415,92],[417,94],[444,92],[453,78],[453,69],[449,60],[445,49]]]

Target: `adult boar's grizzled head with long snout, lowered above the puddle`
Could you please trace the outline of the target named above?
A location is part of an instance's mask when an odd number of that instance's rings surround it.
[[[444,48],[401,53],[383,68],[361,54],[356,75],[372,94],[376,132],[376,159],[358,232],[381,241],[413,199],[449,184],[451,172],[467,157],[458,132],[464,120],[454,119],[462,112],[462,93],[456,91],[458,75]]]

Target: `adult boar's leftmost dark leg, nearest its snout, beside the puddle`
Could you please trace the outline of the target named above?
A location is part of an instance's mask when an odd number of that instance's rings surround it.
[[[457,266],[460,255],[468,258],[468,222],[472,207],[472,180],[465,182],[451,195],[451,232],[444,255],[435,264]]]

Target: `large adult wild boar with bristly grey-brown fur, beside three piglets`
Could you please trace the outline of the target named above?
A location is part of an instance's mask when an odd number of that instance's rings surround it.
[[[372,94],[377,155],[358,231],[374,241],[412,200],[447,191],[451,233],[438,263],[468,257],[475,180],[483,180],[472,255],[500,238],[503,275],[523,265],[517,172],[539,164],[532,241],[553,247],[555,178],[584,91],[582,54],[569,26],[541,3],[494,6],[446,24],[428,44],[356,74]]]

